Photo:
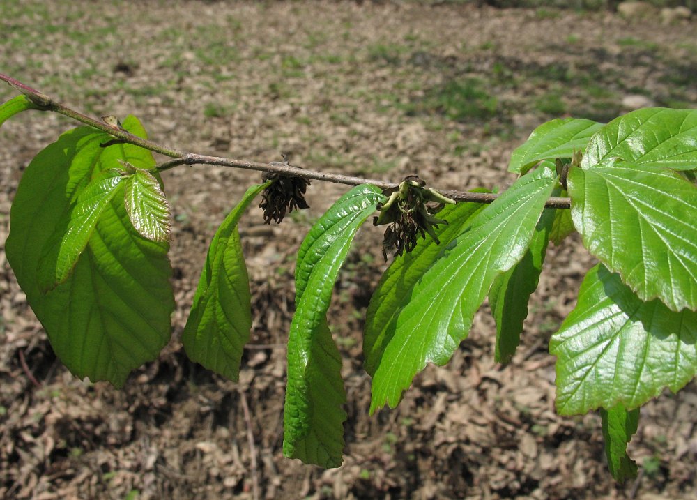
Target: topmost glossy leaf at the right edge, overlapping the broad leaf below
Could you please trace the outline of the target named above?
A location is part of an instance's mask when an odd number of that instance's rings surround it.
[[[697,109],[637,109],[615,118],[590,140],[581,166],[610,158],[675,170],[697,168]]]

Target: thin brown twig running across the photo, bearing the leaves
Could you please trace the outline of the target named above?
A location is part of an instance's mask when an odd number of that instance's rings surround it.
[[[289,176],[301,176],[305,177],[305,179],[338,184],[373,184],[382,189],[397,188],[399,185],[399,183],[377,181],[375,179],[365,179],[363,177],[330,174],[316,170],[305,170],[281,162],[259,163],[181,151],[176,148],[164,146],[148,139],[142,139],[141,137],[132,135],[118,125],[112,125],[106,121],[93,119],[91,116],[87,116],[86,114],[75,111],[75,109],[71,109],[62,105],[61,103],[56,102],[56,100],[50,98],[49,96],[40,93],[36,89],[32,89],[30,86],[26,86],[22,82],[19,82],[17,79],[9,77],[8,75],[3,75],[0,73],[0,80],[7,82],[14,89],[23,93],[27,98],[29,98],[29,100],[31,100],[32,103],[40,107],[40,109],[43,111],[63,114],[93,128],[102,130],[102,132],[106,132],[107,134],[116,137],[116,139],[119,139],[120,141],[128,142],[129,144],[140,146],[141,148],[148,149],[149,151],[154,151],[155,153],[160,153],[164,156],[174,158],[173,160],[160,163],[160,165],[153,169],[155,172],[164,172],[165,170],[178,167],[179,165],[219,165],[222,167],[258,170],[259,172],[273,172],[276,174],[284,174]],[[441,193],[458,202],[491,203],[499,197],[498,194],[483,192],[441,191]],[[545,206],[550,209],[569,209],[571,207],[571,200],[569,198],[550,197]]]

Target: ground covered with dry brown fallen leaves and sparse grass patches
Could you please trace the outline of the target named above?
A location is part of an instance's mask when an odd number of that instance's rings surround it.
[[[289,151],[306,168],[506,188],[510,152],[548,119],[696,107],[696,33],[696,16],[659,10],[8,0],[0,71],[96,116],[136,114],[153,139],[189,151],[257,161]],[[28,113],[0,130],[0,242],[22,170],[72,125]],[[642,409],[630,445],[641,473],[626,485],[606,469],[599,417],[555,414],[546,346],[592,265],[574,237],[551,248],[510,365],[493,363],[484,305],[447,366],[429,366],[398,409],[369,417],[361,331],[385,264],[380,233],[362,229],[329,315],[348,391],[344,465],[284,459],[295,252],[346,188],[313,183],[312,209],[277,227],[259,211],[245,216],[254,328],[239,383],[191,363],[178,343],[206,245],[258,179],[218,167],[164,176],[173,337],[122,391],[79,381],[56,360],[0,247],[0,498],[697,498],[694,384]]]

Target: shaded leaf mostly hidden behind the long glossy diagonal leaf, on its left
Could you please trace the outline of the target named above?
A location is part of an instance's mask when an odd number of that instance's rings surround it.
[[[487,192],[487,190],[476,190]],[[363,353],[365,354],[365,370],[374,374],[385,347],[390,341],[386,336],[385,325],[395,317],[399,305],[408,300],[411,287],[427,271],[436,256],[452,239],[470,226],[474,215],[484,209],[481,203],[458,203],[446,205],[436,215],[445,220],[446,225],[440,225],[436,235],[441,244],[438,245],[428,236],[420,239],[411,251],[395,258],[390,267],[383,273],[373,296],[370,298],[365,315],[365,333],[363,335]]]

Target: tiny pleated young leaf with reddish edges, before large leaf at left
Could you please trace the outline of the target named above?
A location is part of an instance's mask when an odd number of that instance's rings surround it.
[[[136,169],[124,183],[125,206],[136,231],[151,241],[169,241],[169,202],[160,181],[146,170]]]

